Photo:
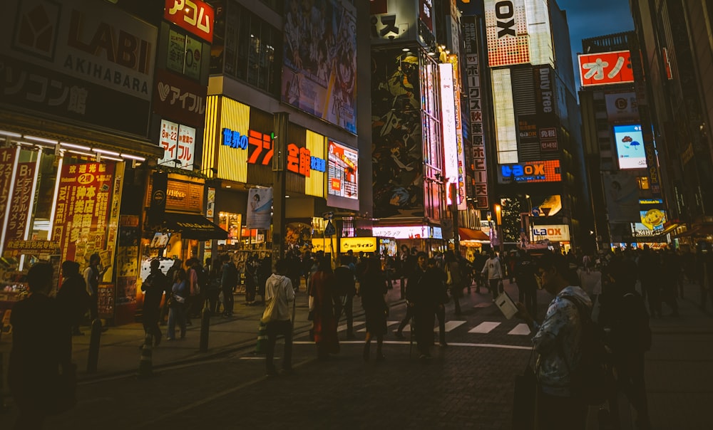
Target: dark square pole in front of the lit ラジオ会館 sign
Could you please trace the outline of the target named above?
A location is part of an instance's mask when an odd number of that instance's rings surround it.
[[[272,272],[277,260],[284,258],[284,204],[287,193],[287,125],[289,114],[275,112],[272,136]]]

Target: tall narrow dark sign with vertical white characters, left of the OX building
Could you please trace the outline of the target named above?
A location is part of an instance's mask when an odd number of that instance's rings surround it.
[[[488,209],[488,167],[486,145],[483,140],[483,108],[481,105],[481,73],[478,61],[478,36],[475,16],[463,16],[463,38],[466,44],[466,85],[468,91],[468,112],[471,120],[471,140],[473,142],[473,176],[475,184],[476,208]]]

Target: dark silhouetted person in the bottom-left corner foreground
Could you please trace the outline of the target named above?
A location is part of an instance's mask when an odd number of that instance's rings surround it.
[[[47,416],[76,402],[73,387],[61,392],[57,381],[74,372],[70,326],[54,298],[53,268],[36,263],[27,273],[30,295],[15,303],[10,315],[12,349],[8,382],[19,414],[13,429],[41,429]],[[73,373],[72,373],[73,374]],[[67,407],[61,407],[63,402]]]

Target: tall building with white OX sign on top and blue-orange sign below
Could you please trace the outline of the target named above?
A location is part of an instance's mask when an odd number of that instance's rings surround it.
[[[484,6],[503,238],[577,246],[588,196],[565,12],[545,0]]]

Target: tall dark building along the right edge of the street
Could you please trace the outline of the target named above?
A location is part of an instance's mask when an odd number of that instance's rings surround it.
[[[713,4],[631,0],[642,52],[667,230],[681,246],[713,238]]]

